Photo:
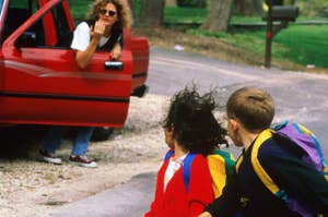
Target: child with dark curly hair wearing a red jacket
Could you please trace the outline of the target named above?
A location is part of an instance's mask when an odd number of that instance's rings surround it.
[[[219,144],[226,144],[226,131],[213,116],[215,107],[212,92],[201,96],[195,85],[185,87],[172,98],[163,128],[173,155],[159,170],[155,197],[144,217],[192,217],[214,200],[206,156]],[[183,167],[188,154],[196,156],[187,190]]]

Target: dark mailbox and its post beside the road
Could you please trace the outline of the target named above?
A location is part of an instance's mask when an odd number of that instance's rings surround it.
[[[282,28],[285,28],[289,22],[294,22],[298,16],[298,8],[293,5],[274,5],[274,0],[269,0],[269,11],[267,21],[267,34],[266,34],[266,60],[265,67],[271,67],[271,45],[272,38]],[[273,22],[280,22],[278,26],[273,28]]]

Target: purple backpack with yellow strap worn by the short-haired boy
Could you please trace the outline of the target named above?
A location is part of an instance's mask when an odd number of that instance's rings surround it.
[[[307,210],[305,207],[302,207],[295,200],[289,198],[285,191],[280,189],[269,177],[266,170],[260,165],[257,154],[258,149],[265,141],[271,138],[273,134],[277,133],[282,137],[286,137],[292,141],[293,145],[297,145],[303,150],[305,150],[305,155],[302,157],[302,160],[313,165],[313,167],[320,171],[325,179],[328,181],[328,167],[325,162],[324,154],[320,147],[319,142],[313,132],[307,130],[304,125],[298,123],[289,124],[288,121],[283,123],[272,126],[272,129],[268,129],[259,134],[258,138],[253,145],[250,159],[253,164],[253,168],[261,182],[266,185],[266,188],[272,192],[276,196],[283,200],[291,210],[300,213],[302,216],[312,216],[311,210]],[[243,161],[243,156],[237,159],[236,162],[236,171],[238,172],[238,168]]]

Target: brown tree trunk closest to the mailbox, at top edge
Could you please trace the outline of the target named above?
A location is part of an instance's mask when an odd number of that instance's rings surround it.
[[[234,0],[235,14],[248,16],[262,15],[262,0]]]

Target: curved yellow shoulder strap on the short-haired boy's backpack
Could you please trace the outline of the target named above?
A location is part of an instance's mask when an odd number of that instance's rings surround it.
[[[261,180],[261,182],[270,190],[270,192],[272,192],[274,195],[280,197],[279,196],[279,194],[280,194],[279,186],[272,181],[270,176],[262,168],[262,166],[260,165],[258,157],[257,157],[259,147],[267,140],[272,137],[273,133],[274,133],[273,130],[267,129],[258,135],[258,137],[256,138],[256,141],[253,145],[253,148],[251,148],[250,160],[251,160],[253,168],[254,168],[256,174],[258,176],[258,178]]]

